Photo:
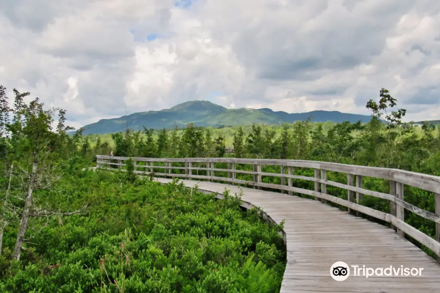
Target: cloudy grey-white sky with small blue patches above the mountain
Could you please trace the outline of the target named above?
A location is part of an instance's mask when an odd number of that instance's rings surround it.
[[[1,0],[0,44],[0,84],[76,128],[194,100],[368,114],[382,87],[440,119],[439,0]]]

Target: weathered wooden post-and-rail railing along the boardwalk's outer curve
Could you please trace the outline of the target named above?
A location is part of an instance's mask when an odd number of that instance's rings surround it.
[[[121,168],[125,166],[124,161],[128,157],[102,156],[97,157],[97,167],[111,166]],[[327,201],[344,206],[350,213],[363,213],[390,223],[392,228],[404,236],[405,233],[422,245],[429,248],[437,255],[440,262],[440,177],[420,174],[410,171],[345,165],[337,163],[297,161],[297,160],[266,160],[266,159],[235,159],[235,158],[132,158],[135,168],[145,168],[144,171],[135,170],[138,174],[152,174],[154,176],[181,177],[184,179],[198,179],[210,181],[222,181],[240,185],[253,186],[254,188],[278,189],[282,192],[288,191],[289,194],[300,193],[314,196],[321,199],[323,203]],[[143,162],[145,165],[139,165]],[[154,165],[156,163],[156,165]],[[183,167],[173,167],[173,163],[183,165]],[[198,166],[193,167],[193,163]],[[215,164],[226,163],[227,168],[216,168]],[[157,165],[161,164],[161,165]],[[253,171],[237,169],[238,165],[252,165]],[[279,166],[280,173],[268,173],[262,171],[262,166]],[[294,168],[312,168],[314,177],[293,175]],[[154,172],[154,170],[163,170]],[[184,174],[173,173],[172,170],[184,170]],[[193,174],[193,171],[206,171],[206,175]],[[347,174],[347,184],[327,180],[327,171],[335,171]],[[216,176],[215,172],[226,172],[227,177]],[[251,174],[253,180],[237,179],[237,173]],[[319,176],[321,175],[321,176]],[[264,183],[263,176],[281,177],[281,184]],[[354,180],[355,177],[355,180]],[[389,193],[383,193],[362,188],[363,177],[373,177],[388,180],[390,184]],[[287,179],[287,184],[286,184]],[[300,179],[314,182],[314,190],[298,188],[293,186],[293,179]],[[355,184],[354,184],[355,182]],[[406,202],[403,197],[403,186],[408,185],[426,191],[434,192],[435,213],[420,209],[417,206]],[[347,190],[347,199],[336,197],[327,193],[327,186],[343,188]],[[390,213],[372,209],[360,204],[362,195],[370,195],[376,198],[388,200]],[[436,239],[431,238],[422,231],[405,223],[404,209],[407,209],[425,219],[436,223]],[[374,241],[374,239],[372,239]]]

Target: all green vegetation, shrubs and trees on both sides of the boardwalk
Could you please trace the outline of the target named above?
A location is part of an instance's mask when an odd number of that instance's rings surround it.
[[[366,105],[373,115],[366,124],[325,128],[307,120],[278,130],[238,127],[230,129],[229,154],[224,135],[194,124],[158,133],[127,129],[111,135],[112,146],[99,138],[91,144],[83,129],[67,134],[72,129],[64,109],[46,109],[38,98],[25,103],[29,93],[14,94],[9,101],[0,86],[0,292],[279,291],[286,257],[282,226],[263,222],[255,210],[242,211],[234,196],[216,202],[176,182],[160,186],[131,172],[83,171],[94,166],[96,154],[316,160],[440,175],[436,126],[424,124],[420,134],[402,123],[406,110],[390,114],[397,101],[386,89]],[[310,171],[295,170],[313,176]],[[347,180],[336,172],[328,178]],[[364,187],[389,188],[371,178]],[[337,188],[328,192],[347,197]],[[405,186],[404,194],[434,212],[432,193]],[[370,196],[361,204],[389,211]],[[406,211],[405,220],[435,235],[433,222]]]

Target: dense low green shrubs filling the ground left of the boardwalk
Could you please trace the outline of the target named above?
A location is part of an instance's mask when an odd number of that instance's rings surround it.
[[[57,183],[63,206],[93,205],[32,223],[47,227],[30,233],[20,261],[3,252],[0,292],[279,291],[286,257],[280,227],[242,211],[235,195],[216,202],[176,183],[127,180],[122,172],[66,174]],[[11,244],[16,232],[5,233]]]

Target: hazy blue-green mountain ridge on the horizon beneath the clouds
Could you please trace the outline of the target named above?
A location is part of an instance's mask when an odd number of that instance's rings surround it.
[[[282,124],[295,121],[306,121],[312,116],[311,121],[326,122],[332,121],[341,123],[350,121],[368,122],[371,116],[341,113],[338,111],[311,111],[306,113],[286,113],[273,111],[269,108],[263,109],[227,109],[208,101],[190,101],[176,105],[170,109],[160,111],[148,111],[133,113],[114,119],[102,119],[96,123],[84,126],[83,134],[104,134],[123,131],[127,125],[134,130],[147,128],[173,128],[175,125],[184,127],[190,122],[197,126],[221,125],[250,125],[250,124]]]

